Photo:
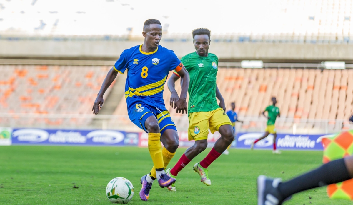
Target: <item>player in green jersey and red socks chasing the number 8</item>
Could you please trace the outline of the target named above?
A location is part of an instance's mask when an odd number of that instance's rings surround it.
[[[166,173],[175,178],[182,168],[206,149],[208,130],[210,129],[212,133],[217,130],[221,137],[215,142],[210,153],[193,166],[193,170],[200,175],[201,181],[210,186],[211,180],[208,178],[207,168],[232,143],[234,130],[225,113],[225,102],[216,84],[218,58],[208,52],[210,31],[207,28],[198,28],[192,31],[192,37],[196,52],[181,58],[181,63],[190,75],[188,135],[189,140],[195,140],[195,144],[189,147],[177,164],[173,168],[167,169]],[[172,92],[170,97],[172,107],[179,98],[175,90],[177,79],[179,79],[179,75],[174,72],[168,81],[168,88]],[[216,97],[220,100],[219,104],[217,104]],[[168,189],[176,191],[174,185],[169,186]]]

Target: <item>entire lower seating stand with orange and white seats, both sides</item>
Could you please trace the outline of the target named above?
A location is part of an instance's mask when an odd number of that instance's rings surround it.
[[[110,66],[0,65],[4,76],[0,81],[0,113],[13,114],[2,117],[0,123],[16,123],[16,127],[88,127],[95,117],[91,114],[92,103],[109,69]],[[261,112],[270,104],[271,96],[276,96],[281,110],[278,130],[291,130],[296,124],[298,129],[318,132],[327,124],[328,130],[348,129],[347,119],[353,112],[353,79],[349,76],[353,76],[353,69],[219,68],[217,85],[226,105],[235,102],[239,117],[245,119],[240,129],[264,128]],[[186,130],[187,115],[175,113],[169,105],[167,85],[164,88],[166,108],[178,129]],[[180,92],[179,81],[176,89]],[[109,92],[110,88],[105,98]],[[20,113],[68,117],[17,116]],[[82,116],[76,118],[75,114]],[[106,126],[137,128],[127,117],[124,96],[116,102],[113,115]]]

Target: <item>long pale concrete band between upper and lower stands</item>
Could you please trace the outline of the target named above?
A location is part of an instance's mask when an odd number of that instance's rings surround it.
[[[124,49],[142,43],[143,39],[127,41],[1,39],[0,58],[115,60]],[[174,50],[178,57],[195,51],[191,40],[162,40],[161,45]],[[211,41],[210,52],[219,56],[220,61],[223,62],[252,59],[266,62],[320,62],[323,60],[353,62],[353,44]]]

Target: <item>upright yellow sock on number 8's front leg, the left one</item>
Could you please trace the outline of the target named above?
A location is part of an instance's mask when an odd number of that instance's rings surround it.
[[[148,133],[148,150],[156,169],[164,168],[161,133]]]

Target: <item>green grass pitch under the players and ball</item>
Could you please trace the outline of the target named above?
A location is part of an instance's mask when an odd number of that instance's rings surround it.
[[[192,166],[210,149],[192,160],[178,175],[177,192],[155,182],[148,202],[141,201],[139,179],[152,161],[147,148],[9,146],[0,147],[0,204],[111,204],[105,193],[108,182],[125,177],[134,186],[130,204],[256,204],[256,178],[260,174],[283,179],[321,165],[322,152],[235,150],[220,156],[209,167],[212,186],[200,182]],[[168,167],[185,151],[180,148]],[[79,188],[73,188],[73,186]],[[309,199],[309,196],[311,199]],[[285,205],[348,205],[330,200],[324,187],[297,194]]]

